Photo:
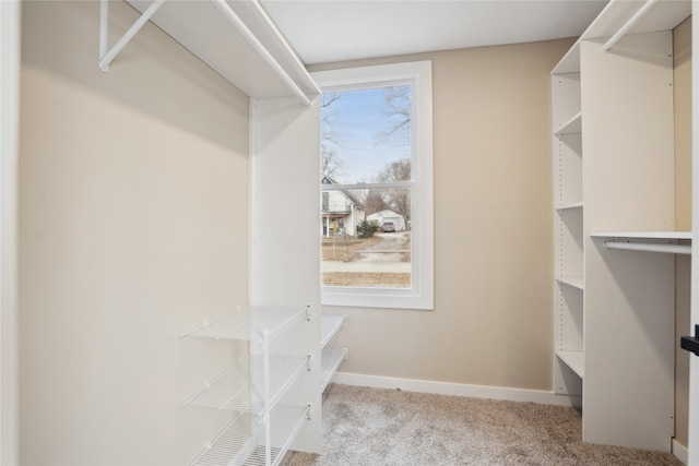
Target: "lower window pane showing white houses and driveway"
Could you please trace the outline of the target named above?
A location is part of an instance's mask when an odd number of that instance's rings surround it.
[[[322,285],[411,288],[411,190],[323,191],[321,199]]]

